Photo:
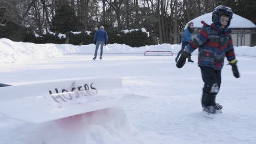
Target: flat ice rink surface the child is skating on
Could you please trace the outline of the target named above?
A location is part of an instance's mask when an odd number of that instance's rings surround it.
[[[106,54],[102,61],[92,61],[92,55],[64,55],[26,64],[2,64],[0,80],[21,85],[60,79],[121,77],[123,87],[130,93],[149,97],[123,106],[130,127],[139,133],[127,136],[124,142],[137,137],[131,142],[256,143],[256,57],[237,56],[240,79],[235,79],[225,59],[222,86],[217,95],[217,102],[224,109],[214,119],[201,115],[203,82],[197,55],[192,56],[195,63],[187,62],[182,69],[176,68],[174,58]],[[29,138],[25,135],[31,136],[31,131],[37,129],[22,127],[21,122],[0,117],[1,143],[7,139],[16,143],[19,139],[27,141]],[[24,129],[28,130],[24,133]]]

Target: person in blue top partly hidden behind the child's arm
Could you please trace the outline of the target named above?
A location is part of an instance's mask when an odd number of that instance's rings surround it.
[[[184,47],[189,44],[189,41],[191,41],[192,34],[194,32],[194,23],[189,22],[188,27],[185,29],[184,37],[182,40],[182,49],[178,52],[177,57],[175,58],[175,62],[178,61],[179,55],[181,55],[181,52],[184,50]],[[188,62],[194,62],[191,60],[191,56],[188,58]]]

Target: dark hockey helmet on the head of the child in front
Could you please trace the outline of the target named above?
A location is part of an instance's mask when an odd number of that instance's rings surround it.
[[[217,25],[220,25],[219,17],[222,15],[229,16],[229,22],[228,22],[228,25],[226,25],[226,27],[229,27],[230,21],[233,16],[233,11],[231,8],[226,7],[224,5],[219,5],[218,7],[214,8],[212,12],[212,22],[216,23]]]

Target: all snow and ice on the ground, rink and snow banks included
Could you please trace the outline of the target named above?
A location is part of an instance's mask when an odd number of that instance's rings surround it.
[[[130,93],[149,97],[86,113],[83,121],[71,120],[75,123],[66,119],[30,124],[0,115],[1,144],[256,143],[256,47],[235,47],[241,77],[235,79],[230,65],[224,66],[217,95],[223,113],[209,119],[201,115],[203,82],[196,62],[178,69],[174,56],[144,56],[148,50],[177,53],[179,45],[107,45],[103,61],[92,61],[95,45],[36,45],[0,39],[0,46],[1,83],[121,77]]]

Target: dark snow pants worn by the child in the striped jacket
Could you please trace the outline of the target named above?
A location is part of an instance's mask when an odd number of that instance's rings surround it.
[[[215,106],[216,95],[219,92],[220,83],[222,83],[222,71],[210,67],[200,68],[202,80],[205,83],[202,89],[202,106]]]

